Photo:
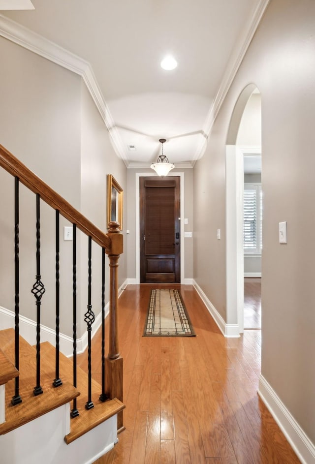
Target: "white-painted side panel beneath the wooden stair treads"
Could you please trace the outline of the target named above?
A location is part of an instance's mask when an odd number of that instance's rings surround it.
[[[3,464],[92,464],[112,449],[117,438],[117,414],[66,444],[70,431],[70,403],[0,435]],[[75,420],[75,419],[74,419]]]

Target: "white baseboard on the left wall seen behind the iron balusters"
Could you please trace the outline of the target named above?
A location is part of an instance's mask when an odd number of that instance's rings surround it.
[[[118,298],[126,288],[127,280],[118,289]],[[105,317],[109,314],[109,303],[105,306]],[[0,330],[14,328],[15,314],[10,309],[5,309],[0,306]],[[99,312],[95,317],[92,325],[92,338],[102,324],[102,313]],[[31,345],[36,343],[36,322],[28,317],[20,315],[20,335]],[[59,334],[60,351],[67,357],[73,354],[73,339]],[[56,344],[56,331],[45,325],[40,325],[40,341],[49,341],[53,346]],[[85,331],[82,337],[77,338],[77,354],[83,353],[88,346],[88,331]]]

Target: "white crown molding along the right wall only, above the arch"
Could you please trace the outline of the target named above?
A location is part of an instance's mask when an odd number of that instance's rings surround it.
[[[200,159],[206,149],[207,146],[207,139],[210,135],[212,126],[219,114],[220,108],[222,106],[222,103],[226,97],[226,94],[231,87],[231,84],[235,78],[235,75],[244,59],[244,56],[250,46],[250,43],[252,42],[252,38],[254,36],[254,33],[257,30],[257,27],[261,21],[261,18],[269,4],[270,0],[260,0],[253,15],[252,15],[252,20],[248,24],[248,27],[244,29],[242,36],[238,40],[237,46],[234,47],[234,53],[232,54],[231,59],[227,63],[227,66],[225,68],[224,75],[221,80],[221,86],[218,90],[218,93],[213,101],[213,104],[209,110],[209,113],[207,115],[205,124],[203,126],[203,131],[207,135],[205,141],[200,144],[200,146],[197,148],[195,155],[193,157],[193,164],[197,159]]]

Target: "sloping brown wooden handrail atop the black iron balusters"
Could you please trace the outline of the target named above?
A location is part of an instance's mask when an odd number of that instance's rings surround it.
[[[76,224],[78,229],[86,235],[92,237],[94,242],[106,249],[107,254],[111,253],[112,240],[107,234],[104,234],[104,232],[95,227],[92,222],[73,208],[61,195],[45,184],[44,181],[37,177],[8,150],[2,147],[2,145],[0,145],[0,166],[12,176],[18,177],[20,182],[32,190],[32,192],[39,193],[42,200],[55,210],[59,210],[63,217],[68,219],[72,224]],[[122,250],[119,251],[120,252],[117,254],[122,252]]]

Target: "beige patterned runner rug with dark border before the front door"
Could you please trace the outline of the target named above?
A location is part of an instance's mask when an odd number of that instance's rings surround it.
[[[144,337],[195,336],[178,290],[151,290]]]

